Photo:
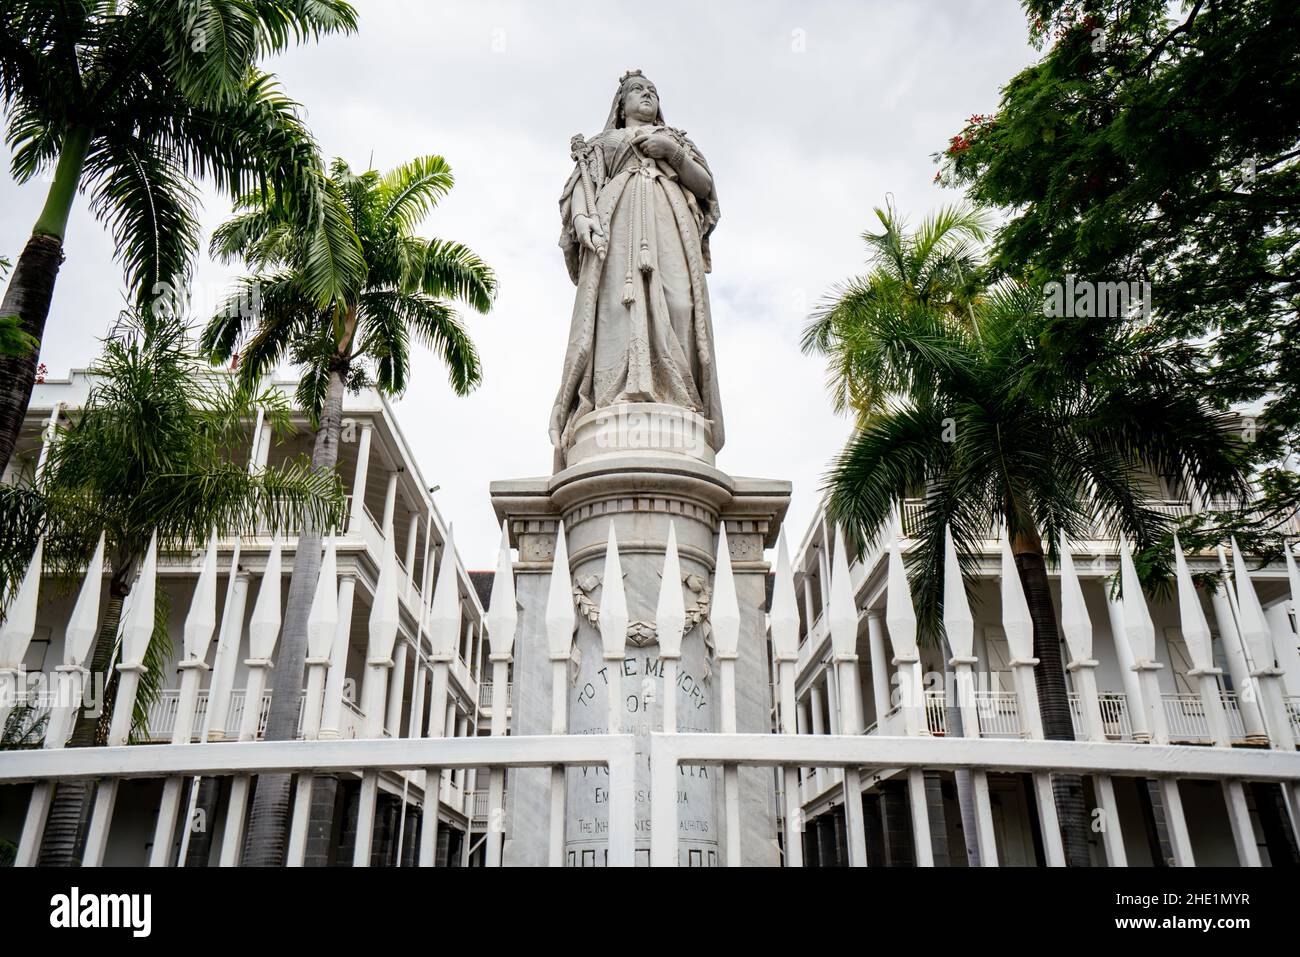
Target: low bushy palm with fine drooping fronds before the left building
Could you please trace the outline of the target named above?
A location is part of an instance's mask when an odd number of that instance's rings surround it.
[[[276,393],[237,385],[213,371],[186,343],[185,328],[139,317],[109,341],[91,367],[96,377],[86,406],[55,436],[34,489],[16,489],[43,510],[46,554],[65,571],[83,566],[99,534],[112,568],[108,607],[91,654],[95,674],[109,670],[122,603],[156,532],[160,549],[186,549],[213,528],[252,531],[256,523],[289,529],[337,520],[342,490],[333,476],[306,462],[250,473],[238,460],[248,421],[261,410],[273,429],[289,429],[289,406]],[[29,554],[30,554],[30,549]],[[164,592],[159,590],[160,598]],[[169,658],[165,605],[146,664],[133,727],[146,720],[161,664]],[[112,693],[100,718],[78,716],[70,745],[101,744]],[[58,785],[42,843],[40,863],[74,865],[87,809],[88,781]]]

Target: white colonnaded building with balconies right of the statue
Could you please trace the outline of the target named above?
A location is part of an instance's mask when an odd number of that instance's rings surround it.
[[[1178,493],[1176,488],[1152,482],[1157,508],[1174,518],[1190,515],[1193,508]],[[911,544],[922,505],[904,503],[897,542],[901,554]],[[1017,675],[1032,651],[1017,648],[1014,632],[1023,631],[1026,623],[1004,603],[1006,566],[998,536],[991,532],[979,549],[978,585],[966,589],[972,614],[965,627],[958,623],[970,648],[959,655],[946,645],[918,646],[906,622],[905,633],[893,635],[890,589],[905,583],[890,576],[888,546],[884,537],[849,564],[857,627],[842,628],[837,641],[831,584],[837,540],[824,506],[805,536],[794,567],[800,599],[800,732],[979,737],[1010,745],[1009,755],[1017,745],[1041,739],[1037,702],[1026,700],[1034,689],[1034,668],[1026,668],[1027,676]],[[1058,568],[1052,570],[1052,589],[1065,624],[1061,661],[1069,663],[1066,684],[1075,736],[1098,744],[1197,749],[1183,752],[1186,776],[1170,779],[1152,768],[1148,774],[1112,775],[1109,784],[1100,784],[1100,776],[1086,779],[1092,862],[1232,866],[1277,863],[1279,857],[1295,861],[1297,809],[1291,785],[1230,785],[1221,778],[1191,774],[1200,752],[1294,752],[1300,740],[1300,651],[1294,602],[1300,583],[1294,564],[1251,571],[1253,563],[1247,558],[1243,580],[1242,567],[1234,570],[1222,550],[1187,555],[1188,571],[1209,573],[1218,590],[1205,594],[1193,588],[1190,596],[1174,593],[1167,601],[1140,602],[1147,605],[1145,615],[1130,614],[1126,619],[1124,601],[1113,593],[1113,579],[1123,564],[1113,533],[1098,523],[1089,538],[1070,542],[1070,550],[1071,577],[1078,588],[1074,594],[1082,598],[1086,615],[1080,629],[1080,606],[1075,603],[1075,635],[1070,635],[1071,601],[1069,596],[1062,598]],[[948,584],[945,598],[954,594],[954,583]],[[1191,581],[1186,585],[1191,586]],[[1074,588],[1067,586],[1071,592]],[[1188,599],[1196,603],[1193,611],[1180,607]],[[1204,633],[1186,633],[1190,620],[1196,623],[1191,631],[1204,627]],[[1080,641],[1091,644],[1083,654]],[[850,662],[850,667],[844,668],[842,662]],[[961,683],[954,680],[954,662],[971,675],[965,710],[958,701]],[[1027,679],[1024,684],[1022,679]],[[919,694],[909,696],[909,689],[919,689]],[[848,719],[845,698],[859,702]],[[1089,700],[1100,719],[1096,727],[1089,727]],[[913,702],[915,707],[909,709]],[[853,727],[846,727],[846,720]],[[1050,801],[1046,807],[1041,801],[1050,796],[1049,789],[1041,789],[1044,778],[1036,781],[1027,770],[988,772],[979,785],[978,802],[984,806],[976,811],[988,814],[998,863],[1053,862],[1053,841],[1044,837],[1052,815]],[[968,784],[954,770],[913,770],[909,775],[905,768],[872,767],[863,768],[861,779],[850,784],[861,792],[861,841],[870,865],[965,866],[968,848],[979,853],[979,841],[972,840],[975,835],[968,839],[967,831],[982,822],[978,817],[963,820],[958,794]],[[801,771],[806,861],[823,866],[850,861],[846,802],[852,800],[841,770]]]

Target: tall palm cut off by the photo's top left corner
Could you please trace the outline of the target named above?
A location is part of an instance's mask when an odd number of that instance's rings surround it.
[[[44,335],[73,200],[90,192],[140,306],[185,289],[198,250],[195,177],[231,196],[285,189],[316,215],[316,144],[257,59],[351,31],[343,0],[6,0],[0,100],[13,173],[53,172],[0,316]],[[13,454],[39,359],[0,354],[0,468]]]

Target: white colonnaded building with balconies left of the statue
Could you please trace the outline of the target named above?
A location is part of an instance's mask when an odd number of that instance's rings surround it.
[[[286,399],[292,398],[295,382],[274,382]],[[86,400],[92,378],[84,372],[73,372],[66,380],[47,380],[38,384],[27,411],[27,424],[18,451],[4,476],[6,482],[30,478],[40,467],[49,434],[49,424],[75,411]],[[467,737],[486,731],[490,713],[482,706],[490,698],[491,687],[481,681],[486,662],[484,641],[484,606],[474,581],[459,557],[448,555],[448,527],[430,497],[430,486],[421,475],[411,447],[398,425],[391,406],[377,393],[364,391],[344,400],[344,423],[338,472],[348,494],[348,521],[335,542],[337,560],[337,640],[333,642],[328,679],[322,694],[324,706],[317,718],[318,737],[325,740],[355,740],[373,731],[368,723],[372,715],[361,706],[368,658],[368,623],[376,606],[384,557],[391,549],[395,558],[396,581],[396,638],[391,653],[391,671],[381,714],[374,716],[385,737],[424,736],[430,733],[447,737]],[[266,464],[280,464],[291,458],[311,454],[312,433],[306,419],[296,416],[298,430],[277,439],[272,429],[260,421],[248,423],[246,447],[239,452],[251,469]],[[393,542],[385,541],[384,528],[393,529]],[[292,572],[296,540],[286,537],[278,542],[269,534],[220,538],[216,544],[216,627],[205,667],[199,670],[202,684],[192,710],[182,715],[186,702],[181,687],[186,659],[185,623],[195,602],[196,586],[204,566],[204,544],[198,542],[187,554],[159,554],[157,588],[165,589],[170,599],[169,629],[173,659],[166,666],[166,688],[152,706],[148,728],[139,741],[142,746],[155,746],[178,739],[179,724],[190,727],[191,741],[239,741],[260,739],[265,729],[270,706],[269,681],[264,675],[254,676],[248,662],[254,619],[259,614],[259,596],[266,590],[268,573],[276,576],[280,602],[287,598],[289,576]],[[433,677],[433,653],[429,624],[429,605],[433,583],[446,558],[455,570],[455,603],[462,627],[454,654],[446,662],[446,709],[436,718],[429,714],[429,685]],[[107,579],[105,579],[107,580]],[[107,588],[103,602],[107,602]],[[0,666],[22,672],[21,681],[32,692],[31,701],[38,707],[30,720],[49,713],[53,698],[55,675],[65,663],[69,620],[78,599],[78,592],[58,593],[49,579],[39,594],[34,629],[21,661],[0,662]],[[276,620],[281,609],[273,610]],[[250,679],[256,685],[256,703],[250,706]],[[98,687],[95,683],[98,681]],[[86,689],[91,701],[103,693],[103,676],[92,676]],[[42,689],[51,692],[44,697]],[[304,705],[307,689],[304,688]],[[101,698],[100,698],[101,700]],[[373,706],[372,706],[373,707]],[[8,709],[4,709],[8,711]],[[306,710],[302,713],[306,718]],[[303,733],[304,720],[299,720]],[[66,728],[70,731],[70,726]],[[139,737],[139,735],[136,736]],[[56,742],[44,741],[47,748]],[[0,757],[0,762],[4,758]],[[377,779],[373,862],[398,863],[404,854],[407,863],[415,859],[415,836],[425,804],[424,772],[393,771]],[[226,781],[229,784],[229,781]],[[188,791],[188,789],[187,789]],[[308,859],[316,863],[351,863],[355,850],[358,794],[360,775],[344,775],[338,788],[338,806],[334,833],[329,841],[318,841],[307,848]],[[18,844],[27,815],[30,787],[0,787],[0,840]],[[446,771],[439,775],[437,848],[439,863],[462,865],[471,859],[471,831],[474,823],[474,772],[472,770]],[[188,798],[188,794],[187,794]],[[200,861],[222,861],[226,827],[226,801],[229,787],[217,794],[216,814],[203,820],[202,831],[191,831],[186,841],[186,856],[192,865]],[[143,865],[156,859],[159,807],[162,801],[162,781],[138,779],[124,784],[112,815],[110,839],[103,863]],[[486,823],[486,794],[478,804],[478,830]],[[178,859],[183,835],[173,837],[169,862]],[[399,845],[399,839],[402,840]],[[233,845],[228,845],[228,858]],[[229,862],[229,859],[226,861]]]

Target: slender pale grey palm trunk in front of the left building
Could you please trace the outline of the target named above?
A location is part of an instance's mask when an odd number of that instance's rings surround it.
[[[330,376],[329,393],[321,412],[312,468],[333,472],[338,464],[338,442],[343,421],[343,374]],[[276,681],[266,719],[268,741],[290,741],[298,735],[299,700],[303,690],[303,668],[307,657],[307,618],[312,610],[316,579],[321,571],[321,529],[308,523],[298,536],[294,550],[294,572],[289,580],[285,625],[276,658]],[[285,862],[291,798],[291,775],[264,774],[257,778],[248,835],[244,843],[244,865],[278,867]]]

